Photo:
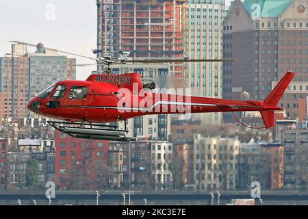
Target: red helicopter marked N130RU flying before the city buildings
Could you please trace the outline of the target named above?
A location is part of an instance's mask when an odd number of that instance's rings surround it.
[[[16,42],[16,41],[15,41]],[[24,43],[25,42],[18,42]],[[27,44],[35,46],[34,44]],[[47,48],[45,48],[47,49]],[[66,53],[64,51],[60,51]],[[76,55],[73,53],[68,53]],[[85,57],[83,55],[79,55]],[[86,81],[57,82],[30,99],[27,108],[36,114],[62,121],[49,121],[55,129],[75,138],[135,141],[127,138],[125,129],[118,129],[119,121],[148,114],[187,114],[207,112],[259,111],[264,127],[274,126],[274,111],[295,73],[287,72],[264,101],[233,101],[198,96],[155,93],[155,83],[142,82],[137,73],[112,74],[112,64],[223,62],[237,60],[118,60],[103,57],[97,60],[107,66],[103,74],[90,75]],[[84,65],[79,65],[84,66]],[[65,122],[64,122],[65,121]],[[102,123],[114,123],[104,125]]]

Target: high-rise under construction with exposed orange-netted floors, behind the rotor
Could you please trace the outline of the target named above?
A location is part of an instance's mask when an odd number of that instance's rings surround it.
[[[181,59],[185,52],[184,0],[97,0],[97,56],[127,59]],[[116,65],[115,74],[139,73],[145,82],[162,75],[183,79],[183,63]],[[103,71],[103,66],[98,66]],[[159,84],[157,84],[159,86]],[[133,136],[167,140],[170,116],[151,115],[128,123]]]

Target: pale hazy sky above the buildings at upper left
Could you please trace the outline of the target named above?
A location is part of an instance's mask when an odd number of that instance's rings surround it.
[[[0,56],[11,53],[11,40],[42,42],[45,47],[91,57],[92,49],[97,49],[94,0],[1,0],[0,27]],[[92,63],[76,58],[77,64]],[[96,67],[77,67],[77,79],[86,79],[92,70]]]

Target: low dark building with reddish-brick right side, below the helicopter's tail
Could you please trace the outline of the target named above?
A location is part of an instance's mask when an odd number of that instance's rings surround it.
[[[246,190],[253,181],[264,190],[283,188],[284,149],[279,142],[242,143],[238,162],[238,190]]]

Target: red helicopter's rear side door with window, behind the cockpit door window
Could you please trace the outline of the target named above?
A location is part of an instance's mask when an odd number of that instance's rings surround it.
[[[68,92],[68,105],[70,106],[70,115],[79,120],[85,120],[87,106],[87,86],[72,86]]]

